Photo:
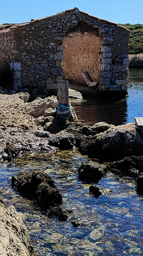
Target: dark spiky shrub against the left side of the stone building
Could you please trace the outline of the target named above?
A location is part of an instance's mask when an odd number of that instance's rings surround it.
[[[9,62],[4,62],[0,67],[0,83],[6,88],[13,86],[13,70],[11,70]]]

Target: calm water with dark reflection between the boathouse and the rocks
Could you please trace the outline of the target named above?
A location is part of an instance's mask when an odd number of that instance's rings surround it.
[[[143,69],[130,69],[128,78],[128,98],[72,100],[79,120],[89,125],[96,122],[120,125],[134,122],[135,116],[143,116]]]

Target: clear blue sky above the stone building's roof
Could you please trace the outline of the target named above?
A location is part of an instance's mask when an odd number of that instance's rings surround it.
[[[0,0],[0,24],[27,22],[73,7],[112,22],[143,24],[143,0]]]

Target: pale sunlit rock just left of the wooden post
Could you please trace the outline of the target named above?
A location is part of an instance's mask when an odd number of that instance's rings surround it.
[[[30,103],[27,103],[26,112],[33,117],[39,117],[44,115],[45,110],[48,108],[55,109],[57,105],[57,97],[51,96],[45,99],[41,99],[40,97],[36,98]]]

